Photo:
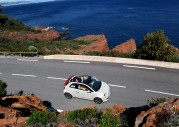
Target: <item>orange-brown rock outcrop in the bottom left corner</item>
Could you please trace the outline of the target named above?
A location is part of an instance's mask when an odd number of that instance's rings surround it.
[[[32,110],[46,111],[47,107],[35,95],[6,96],[0,100],[1,127],[22,127]]]

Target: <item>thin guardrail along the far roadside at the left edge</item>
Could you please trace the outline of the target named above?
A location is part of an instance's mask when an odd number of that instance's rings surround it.
[[[0,52],[3,56],[38,56],[38,52]]]

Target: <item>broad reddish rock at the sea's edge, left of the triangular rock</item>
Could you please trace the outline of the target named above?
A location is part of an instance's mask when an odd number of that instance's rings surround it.
[[[89,42],[89,45],[83,45],[81,49],[76,50],[77,54],[84,54],[85,52],[98,51],[106,52],[109,51],[108,40],[103,34],[100,35],[87,35],[83,37],[76,38],[75,40],[83,40]]]

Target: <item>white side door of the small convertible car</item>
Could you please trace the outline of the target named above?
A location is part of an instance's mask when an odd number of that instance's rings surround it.
[[[80,89],[80,87],[85,87],[85,89]],[[87,85],[79,84],[79,98],[93,100],[94,99],[94,91],[91,90]]]

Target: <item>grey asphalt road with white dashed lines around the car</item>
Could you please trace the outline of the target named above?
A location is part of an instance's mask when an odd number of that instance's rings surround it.
[[[93,75],[108,83],[110,99],[100,105],[83,99],[66,99],[63,95],[65,79],[75,74]],[[8,94],[33,93],[60,110],[88,105],[104,108],[114,104],[139,107],[147,105],[151,98],[179,97],[179,70],[149,66],[0,58],[0,80],[8,84]]]

